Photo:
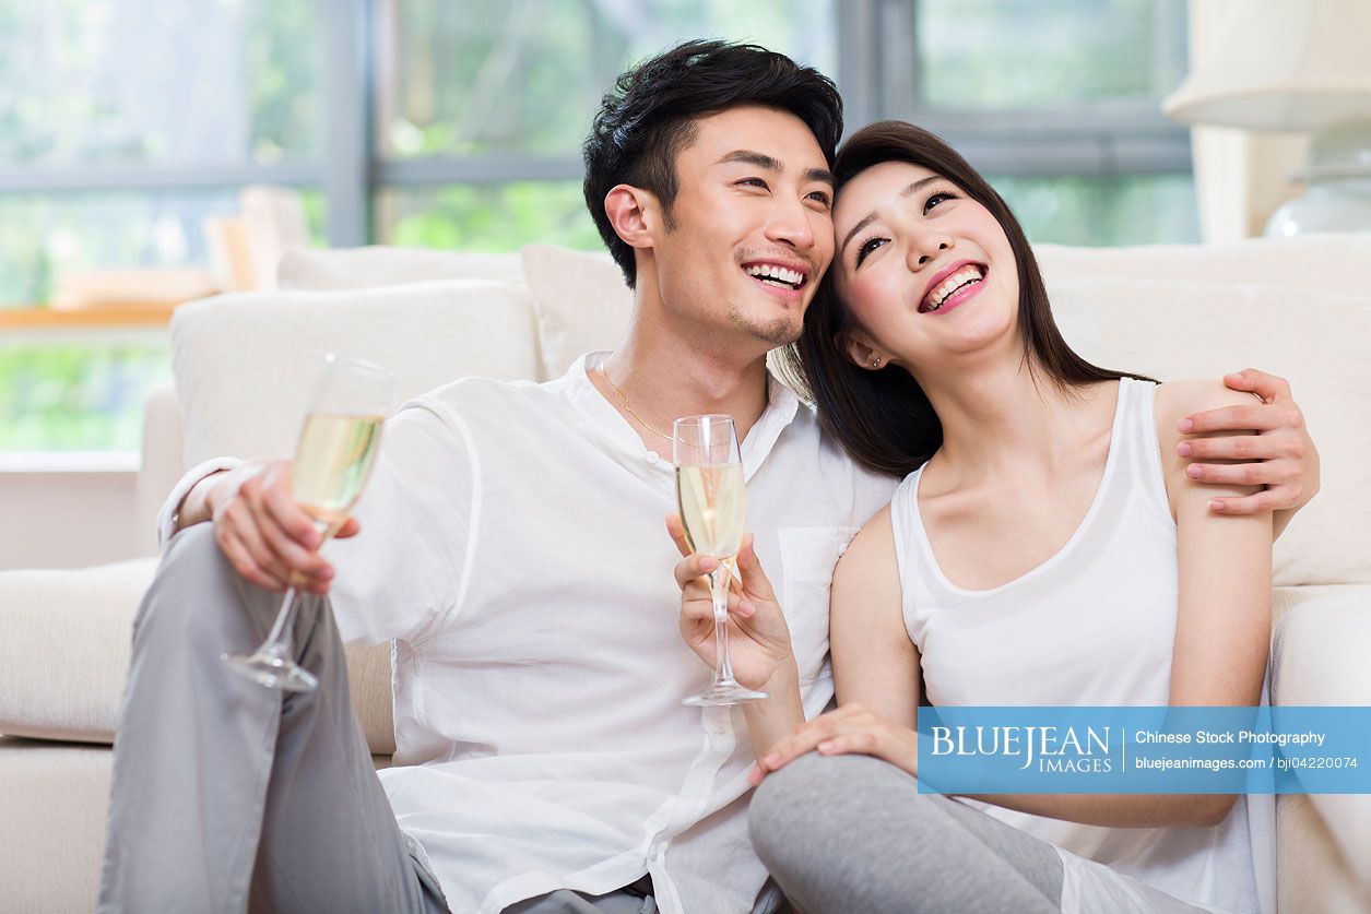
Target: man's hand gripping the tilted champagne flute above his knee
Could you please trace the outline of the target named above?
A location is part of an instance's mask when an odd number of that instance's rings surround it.
[[[260,465],[241,485],[226,478],[204,499],[214,539],[239,574],[269,591],[293,584],[310,593],[328,593],[333,566],[318,552],[324,534],[314,518],[291,499],[289,460]],[[359,529],[356,519],[348,518],[333,536],[345,539]]]

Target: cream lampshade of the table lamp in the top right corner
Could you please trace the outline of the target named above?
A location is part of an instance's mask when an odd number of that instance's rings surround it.
[[[1168,116],[1256,130],[1371,119],[1371,0],[1234,3]]]

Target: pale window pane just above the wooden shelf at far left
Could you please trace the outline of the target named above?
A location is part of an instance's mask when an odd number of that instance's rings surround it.
[[[322,195],[302,193],[319,238]],[[49,301],[86,270],[208,267],[204,221],[239,212],[233,189],[0,196],[0,307]]]

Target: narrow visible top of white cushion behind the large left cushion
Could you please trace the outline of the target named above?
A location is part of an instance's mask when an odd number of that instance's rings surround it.
[[[287,248],[277,264],[281,289],[369,289],[432,280],[524,281],[517,254],[466,254],[430,248]]]

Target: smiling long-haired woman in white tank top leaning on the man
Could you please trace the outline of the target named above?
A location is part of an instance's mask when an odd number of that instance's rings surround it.
[[[758,852],[810,911],[1274,909],[1271,798],[916,792],[921,699],[1257,704],[1272,522],[1186,484],[1178,422],[1250,397],[1072,352],[1023,230],[960,155],[884,122],[835,171],[832,286],[794,366],[825,430],[905,480],[834,577],[839,708],[749,713],[797,728],[754,774]],[[743,596],[754,637],[780,637],[769,591]]]

